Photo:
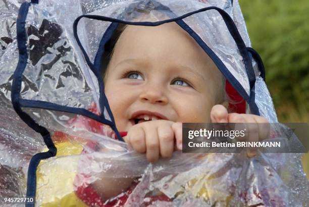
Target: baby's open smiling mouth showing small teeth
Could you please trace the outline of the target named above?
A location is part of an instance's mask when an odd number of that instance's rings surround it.
[[[132,125],[139,124],[147,121],[155,121],[155,120],[168,120],[164,115],[157,112],[149,112],[149,111],[137,111],[132,114],[130,122]]]

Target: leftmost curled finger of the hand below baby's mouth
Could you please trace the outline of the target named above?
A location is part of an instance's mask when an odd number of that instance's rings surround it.
[[[126,136],[125,141],[130,144],[135,151],[139,153],[146,152],[145,133],[140,126],[136,125],[136,127],[132,127]]]

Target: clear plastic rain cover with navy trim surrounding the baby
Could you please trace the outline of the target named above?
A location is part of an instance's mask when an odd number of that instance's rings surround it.
[[[237,0],[0,0],[0,17],[2,201],[33,196],[36,206],[308,205],[300,153],[248,158],[177,151],[150,164],[117,140],[100,68],[119,23],[176,21],[251,112],[277,122],[259,64],[245,50],[250,41]],[[120,194],[105,194],[123,183],[128,188]]]

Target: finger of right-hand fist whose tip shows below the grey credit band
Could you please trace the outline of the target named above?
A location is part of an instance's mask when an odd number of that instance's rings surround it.
[[[247,129],[247,141],[249,142],[258,142],[259,141],[259,126],[249,114],[242,114],[243,119],[245,120],[245,125]],[[256,155],[256,149],[254,147],[247,148],[247,156],[252,158]]]

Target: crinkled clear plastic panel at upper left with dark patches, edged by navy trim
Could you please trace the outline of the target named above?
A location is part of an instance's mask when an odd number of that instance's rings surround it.
[[[27,22],[31,22],[26,26],[29,62],[23,75],[30,84],[21,97],[74,108],[98,103],[97,82],[89,68],[81,65],[67,28],[37,5],[29,8]]]

